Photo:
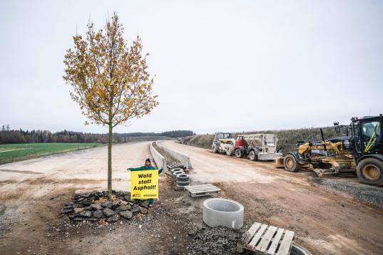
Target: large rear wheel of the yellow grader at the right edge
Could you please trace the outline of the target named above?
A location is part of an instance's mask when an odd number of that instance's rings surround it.
[[[367,157],[357,165],[357,176],[364,184],[383,186],[383,161]]]

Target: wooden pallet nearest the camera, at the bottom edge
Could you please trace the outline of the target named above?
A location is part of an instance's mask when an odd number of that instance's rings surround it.
[[[255,222],[238,242],[238,251],[248,249],[255,254],[288,255],[294,234],[294,231]]]

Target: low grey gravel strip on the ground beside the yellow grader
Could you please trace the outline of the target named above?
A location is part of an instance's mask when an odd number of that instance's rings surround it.
[[[312,178],[312,182],[320,184],[330,192],[350,194],[352,197],[383,208],[383,188],[358,182],[342,182],[337,179]]]

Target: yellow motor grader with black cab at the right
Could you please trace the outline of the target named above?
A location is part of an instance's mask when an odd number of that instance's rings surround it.
[[[347,135],[320,142],[298,142],[297,151],[283,158],[285,170],[297,172],[301,167],[314,168],[318,176],[356,172],[370,185],[383,185],[383,116],[354,117],[349,125],[334,123],[335,132],[345,127]],[[351,134],[349,135],[349,133]],[[278,165],[278,162],[277,162]]]

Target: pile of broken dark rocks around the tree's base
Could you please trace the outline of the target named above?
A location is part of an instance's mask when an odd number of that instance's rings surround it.
[[[130,192],[116,192],[113,190],[113,199],[107,199],[108,193],[90,192],[74,194],[73,202],[65,204],[61,214],[66,214],[75,222],[89,221],[117,222],[120,218],[131,219],[134,214],[147,214],[148,201],[131,200]]]

